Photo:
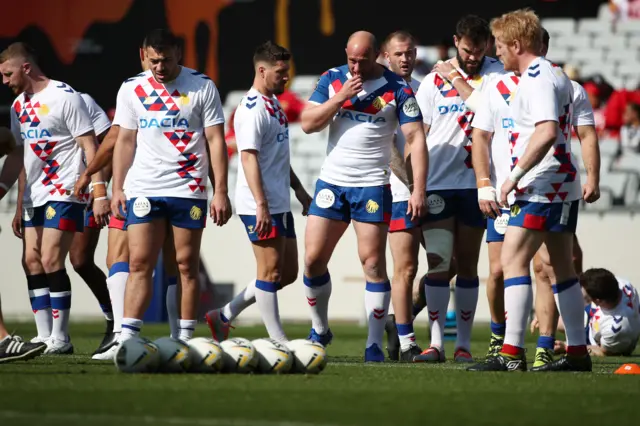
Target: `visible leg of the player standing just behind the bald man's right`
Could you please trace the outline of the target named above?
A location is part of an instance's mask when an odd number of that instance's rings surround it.
[[[413,283],[418,272],[418,250],[420,248],[420,228],[411,228],[389,234],[389,245],[393,257],[393,280],[391,282],[391,300],[395,315],[395,325],[400,339],[400,351],[407,353],[407,361],[412,361],[414,355],[421,350],[415,344],[413,330]],[[389,345],[388,345],[389,346]],[[398,360],[398,352],[391,353],[387,347],[389,357]],[[415,349],[411,354],[412,349]],[[392,356],[393,355],[393,356]]]

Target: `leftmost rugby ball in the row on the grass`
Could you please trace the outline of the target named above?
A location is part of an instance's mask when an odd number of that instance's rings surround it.
[[[150,340],[134,337],[120,343],[113,361],[123,373],[153,373],[160,366],[160,351]]]

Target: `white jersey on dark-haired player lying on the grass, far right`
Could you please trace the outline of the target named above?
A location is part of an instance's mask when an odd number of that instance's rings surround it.
[[[614,309],[591,304],[589,341],[614,353],[633,352],[640,338],[640,298],[629,281],[618,278],[622,299]]]

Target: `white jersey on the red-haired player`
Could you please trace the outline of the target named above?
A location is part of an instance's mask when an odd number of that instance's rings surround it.
[[[517,200],[562,203],[582,197],[580,178],[571,156],[573,87],[562,71],[538,57],[520,77],[512,102],[512,166],[527,149],[536,123],[555,121],[558,135],[549,152],[518,183]]]

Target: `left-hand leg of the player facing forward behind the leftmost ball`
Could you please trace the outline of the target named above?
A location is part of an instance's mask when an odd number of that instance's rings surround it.
[[[166,235],[166,221],[156,219],[127,227],[129,240],[129,277],[124,297],[124,317],[120,341],[138,336],[142,317],[149,307],[153,291],[153,269]]]

